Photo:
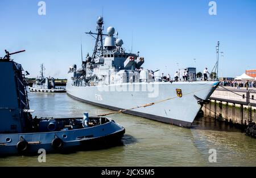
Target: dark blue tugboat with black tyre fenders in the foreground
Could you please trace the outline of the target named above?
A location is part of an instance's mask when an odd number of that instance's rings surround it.
[[[20,51],[24,52],[24,51]],[[27,97],[22,65],[10,59],[12,54],[0,58],[0,155],[65,152],[86,149],[92,145],[120,142],[125,129],[107,117],[33,118]]]

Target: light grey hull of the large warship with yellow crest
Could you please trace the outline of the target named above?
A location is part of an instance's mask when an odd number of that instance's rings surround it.
[[[114,111],[127,109],[123,113],[190,128],[202,107],[198,98],[208,100],[217,85],[218,82],[142,82],[76,87],[68,82],[66,90],[69,96],[85,103]],[[136,87],[150,90],[135,91]],[[140,107],[145,104],[150,105]]]

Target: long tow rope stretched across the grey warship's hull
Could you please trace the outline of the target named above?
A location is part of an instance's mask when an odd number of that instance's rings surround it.
[[[195,93],[195,92],[199,92],[199,91],[202,91],[202,90],[206,90],[206,89],[208,89],[208,88],[209,88],[209,87],[203,88],[203,89],[201,89],[201,90],[196,90],[196,91],[188,92],[187,94],[183,94],[183,96],[184,96],[184,95],[193,94],[193,93]],[[167,98],[167,99],[164,99],[164,100],[155,101],[155,102],[153,102],[153,103],[143,104],[143,105],[140,105],[140,106],[137,106],[137,107],[134,107],[134,108],[130,108],[130,109],[121,109],[121,110],[119,110],[119,111],[109,112],[109,113],[105,113],[105,114],[97,115],[97,116],[93,116],[93,117],[109,116],[109,115],[113,115],[113,114],[115,114],[115,113],[123,113],[123,112],[125,112],[125,111],[131,111],[131,110],[138,109],[138,108],[146,108],[146,107],[150,107],[150,106],[152,106],[152,105],[159,104],[159,103],[163,103],[163,102],[165,102],[165,101],[172,100],[172,99],[176,99],[176,98],[179,98],[179,96],[175,96],[175,97],[172,97],[172,98]]]

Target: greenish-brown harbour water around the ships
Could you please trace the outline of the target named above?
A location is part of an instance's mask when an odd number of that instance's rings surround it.
[[[28,93],[37,117],[82,117],[109,112],[67,94]],[[180,111],[180,114],[185,111]],[[0,166],[256,166],[256,139],[210,117],[197,118],[192,129],[122,113],[109,116],[126,128],[123,145],[109,149],[0,158]],[[209,162],[210,149],[216,162]]]

